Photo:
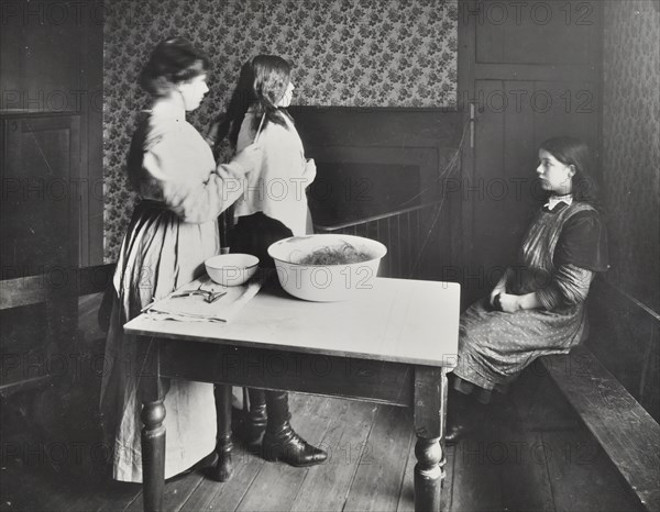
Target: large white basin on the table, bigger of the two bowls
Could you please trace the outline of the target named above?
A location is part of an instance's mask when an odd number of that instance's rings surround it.
[[[299,263],[317,249],[341,247],[344,244],[351,244],[366,254],[369,259],[338,265]],[[294,297],[315,302],[343,301],[369,292],[385,254],[387,248],[375,240],[343,234],[294,236],[268,247],[282,288]]]

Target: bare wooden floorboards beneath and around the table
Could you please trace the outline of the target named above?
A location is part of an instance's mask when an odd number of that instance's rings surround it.
[[[92,320],[81,314],[82,343],[98,353],[102,343]],[[18,403],[2,404],[3,422],[11,424],[3,425],[0,510],[142,510],[140,486],[112,481],[95,453],[98,376],[88,371],[79,385],[77,413],[61,430],[12,428],[21,421],[30,425],[30,408],[21,412]],[[326,464],[266,463],[237,442],[229,482],[215,482],[201,471],[173,479],[165,486],[165,510],[414,510],[409,411],[302,394],[292,394],[290,408],[294,427],[328,450]],[[67,455],[64,461],[58,447]],[[449,447],[446,475],[443,511],[634,510],[607,457],[534,369],[487,408],[471,437]]]

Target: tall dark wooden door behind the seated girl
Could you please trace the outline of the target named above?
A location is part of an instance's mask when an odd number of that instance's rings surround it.
[[[540,204],[539,144],[572,135],[597,154],[602,8],[595,0],[459,7],[459,105],[472,123],[460,187],[468,303],[513,264]]]

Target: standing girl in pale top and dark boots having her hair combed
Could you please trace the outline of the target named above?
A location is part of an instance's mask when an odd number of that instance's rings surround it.
[[[235,203],[230,245],[232,252],[257,256],[264,267],[274,266],[267,253],[271,244],[304,235],[311,224],[306,188],[316,177],[316,165],[305,158],[302,142],[286,111],[294,91],[290,73],[290,65],[274,55],[257,55],[246,63],[216,134],[220,142],[229,133],[231,146],[239,152],[256,138],[263,149]],[[292,466],[326,460],[326,452],[309,445],[289,424],[286,392],[251,388],[249,394],[250,413],[243,425],[249,446],[257,447],[261,442],[264,458]]]

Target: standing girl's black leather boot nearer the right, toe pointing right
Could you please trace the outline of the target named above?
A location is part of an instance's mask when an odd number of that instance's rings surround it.
[[[311,446],[292,427],[288,393],[267,391],[268,423],[262,442],[266,460],[280,460],[295,467],[314,466],[328,458],[328,454]]]

